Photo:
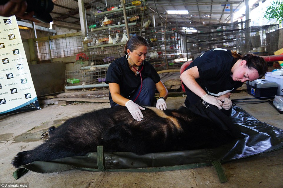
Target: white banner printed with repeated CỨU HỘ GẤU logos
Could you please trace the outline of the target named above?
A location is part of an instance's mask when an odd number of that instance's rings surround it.
[[[0,116],[41,109],[15,16],[0,16]]]

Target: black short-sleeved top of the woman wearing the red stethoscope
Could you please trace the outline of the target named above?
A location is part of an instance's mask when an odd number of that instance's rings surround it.
[[[139,67],[141,70],[142,67]],[[160,77],[157,74],[154,67],[149,64],[149,62],[144,61],[142,69],[142,79],[150,77],[154,83],[160,81]],[[135,73],[130,70],[128,60],[126,56],[120,57],[114,60],[108,67],[105,83],[116,83],[120,86],[120,94],[125,98],[130,98],[133,96],[134,92],[137,89],[140,89],[139,86],[142,83],[141,77],[139,74],[135,76]],[[114,106],[116,103],[113,102],[111,93],[109,92],[110,105]]]

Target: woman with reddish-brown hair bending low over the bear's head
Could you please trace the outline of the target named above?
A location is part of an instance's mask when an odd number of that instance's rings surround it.
[[[197,57],[182,73],[181,79],[186,90],[187,108],[202,99],[229,110],[231,92],[246,81],[262,78],[267,72],[266,61],[254,54],[241,54],[215,48]]]

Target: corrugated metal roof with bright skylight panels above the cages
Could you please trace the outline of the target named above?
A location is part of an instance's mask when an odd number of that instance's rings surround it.
[[[86,8],[86,16],[91,15],[91,4],[99,2],[105,3],[105,0],[83,0]],[[107,0],[111,3],[114,0]],[[115,0],[119,1],[119,0]],[[128,1],[128,0],[127,0]],[[142,1],[142,0],[140,0]],[[53,0],[54,9],[51,17],[54,21],[63,21],[68,23],[80,24],[79,9],[77,0]],[[245,5],[244,0],[148,0],[146,1],[150,7],[150,12],[158,12],[161,19],[165,19],[167,10],[188,10],[189,14],[181,18],[176,15],[168,15],[167,21],[182,25],[189,25],[189,19],[193,19],[199,23],[227,23],[230,19],[230,4],[232,4],[233,12],[237,12]],[[155,14],[156,17],[158,17]],[[158,21],[158,19],[156,20]]]

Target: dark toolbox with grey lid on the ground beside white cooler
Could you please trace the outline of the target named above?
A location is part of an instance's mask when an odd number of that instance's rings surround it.
[[[274,97],[277,94],[278,84],[266,79],[247,81],[248,94],[255,97]]]

